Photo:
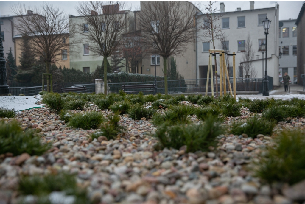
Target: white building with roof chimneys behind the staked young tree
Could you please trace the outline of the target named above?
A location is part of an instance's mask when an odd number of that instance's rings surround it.
[[[236,77],[245,77],[242,70],[239,68],[242,60],[242,55],[245,52],[245,40],[250,34],[252,48],[254,51],[254,59],[252,65],[256,76],[253,78],[262,78],[262,54],[260,52],[260,44],[265,42],[264,28],[262,21],[268,17],[271,20],[269,34],[267,36],[267,72],[268,76],[273,77],[273,85],[279,86],[278,80],[278,9],[279,6],[264,9],[254,9],[254,1],[250,1],[249,10],[241,10],[225,12],[224,3],[220,3],[221,13],[214,13],[213,16],[220,16],[216,21],[220,25],[221,31],[225,37],[225,45],[228,47],[228,53],[236,54]],[[205,23],[205,14],[197,15],[197,26],[202,26]],[[197,78],[206,78],[207,66],[209,62],[209,49],[213,49],[213,44],[210,39],[203,36],[204,30],[200,29],[197,32]],[[215,40],[215,48],[223,49],[221,40]],[[217,57],[218,58],[218,57]],[[213,65],[214,65],[214,60]],[[265,54],[264,54],[265,61]],[[232,66],[232,57],[229,57],[229,66]],[[264,62],[265,69],[265,62]],[[217,70],[219,71],[219,62],[217,60]],[[229,72],[232,73],[232,71]],[[219,72],[218,72],[219,73]],[[230,75],[232,76],[232,74]]]

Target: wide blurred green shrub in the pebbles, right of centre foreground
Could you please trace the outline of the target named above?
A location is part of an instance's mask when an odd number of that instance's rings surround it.
[[[216,117],[208,117],[203,125],[168,126],[162,125],[154,135],[162,148],[179,149],[187,146],[187,152],[207,151],[209,146],[216,146],[216,137],[223,133]]]

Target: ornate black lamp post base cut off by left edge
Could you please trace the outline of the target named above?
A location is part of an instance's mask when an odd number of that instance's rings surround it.
[[[1,30],[1,25],[0,25]],[[0,35],[0,95],[8,94],[9,86],[6,77],[6,60],[4,59],[4,49],[2,44],[2,36]]]

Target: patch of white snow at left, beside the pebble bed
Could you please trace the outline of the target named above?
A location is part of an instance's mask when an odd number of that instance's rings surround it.
[[[15,97],[15,98],[14,98]],[[33,107],[42,107],[42,105],[35,104],[41,99],[37,96],[0,96],[0,107],[14,108],[17,111],[30,109]]]

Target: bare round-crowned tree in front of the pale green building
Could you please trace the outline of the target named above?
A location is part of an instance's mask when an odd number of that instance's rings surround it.
[[[113,1],[84,1],[77,5],[77,13],[83,16],[83,23],[79,24],[79,30],[84,30],[84,24],[88,24],[86,32],[81,32],[90,44],[90,50],[95,55],[104,57],[104,93],[107,93],[107,58],[117,50],[122,42],[123,34],[129,28],[128,11],[124,9],[124,2]]]

